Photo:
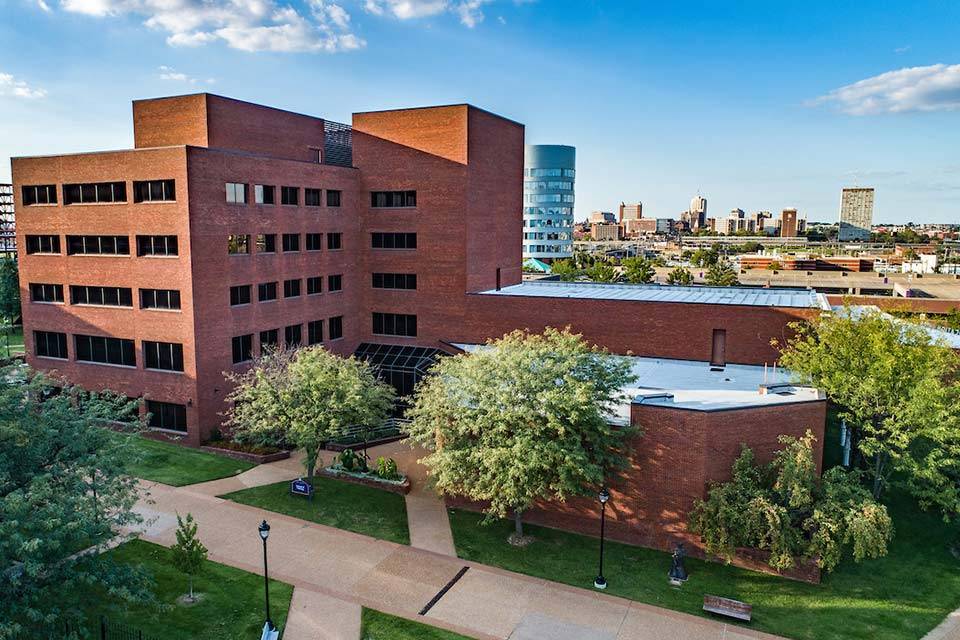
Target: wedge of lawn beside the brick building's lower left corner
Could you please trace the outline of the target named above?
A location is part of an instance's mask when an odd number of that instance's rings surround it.
[[[131,475],[175,487],[234,476],[255,466],[243,460],[138,435],[118,434],[118,437],[133,439],[136,460],[130,465]]]

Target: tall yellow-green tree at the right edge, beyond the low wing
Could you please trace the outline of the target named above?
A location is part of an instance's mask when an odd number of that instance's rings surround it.
[[[960,358],[923,328],[849,307],[792,325],[781,363],[840,407],[873,495],[904,484],[960,513]]]

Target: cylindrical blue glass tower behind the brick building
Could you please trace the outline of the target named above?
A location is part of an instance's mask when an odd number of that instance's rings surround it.
[[[571,258],[577,150],[530,144],[523,156],[523,259]]]

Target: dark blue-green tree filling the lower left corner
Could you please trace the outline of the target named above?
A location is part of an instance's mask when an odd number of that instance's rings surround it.
[[[0,637],[82,624],[93,599],[149,598],[143,572],[102,552],[140,518],[127,474],[137,405],[27,370],[0,371]]]

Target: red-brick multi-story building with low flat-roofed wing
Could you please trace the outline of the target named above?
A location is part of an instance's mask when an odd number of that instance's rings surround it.
[[[771,339],[822,297],[521,283],[518,123],[449,105],[358,113],[350,128],[209,94],[135,102],[133,122],[133,149],[13,160],[27,358],[143,398],[152,426],[190,444],[221,424],[223,372],[271,345],[357,353],[409,392],[454,344],[567,325],[646,367],[711,376],[700,389],[649,374],[626,411],[664,416],[647,429],[661,444],[636,459],[632,477],[653,484],[624,516],[634,533],[668,502],[682,519],[741,441],[768,454],[780,433],[822,435],[815,393],[768,394],[762,366],[724,373],[774,363]],[[669,450],[688,480],[657,457]]]

